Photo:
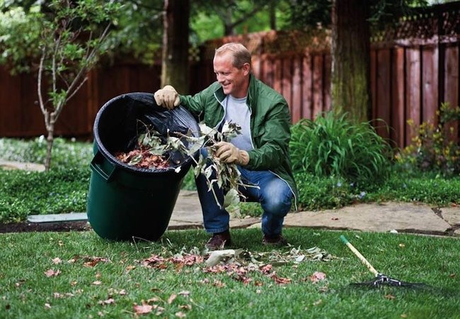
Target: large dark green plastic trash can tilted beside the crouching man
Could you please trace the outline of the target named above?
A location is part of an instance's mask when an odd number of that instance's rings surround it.
[[[162,137],[168,129],[195,137],[200,132],[183,106],[167,110],[157,106],[149,93],[123,94],[100,108],[93,126],[87,213],[91,228],[108,240],[158,240],[192,164],[192,158],[180,152],[169,154],[166,169],[142,169],[118,161],[115,152],[132,150],[144,124],[153,125]]]

